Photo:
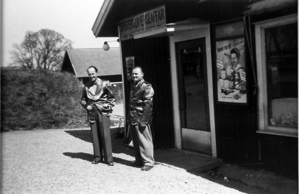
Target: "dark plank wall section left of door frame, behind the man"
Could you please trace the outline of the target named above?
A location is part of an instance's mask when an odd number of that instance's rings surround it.
[[[135,67],[144,70],[144,80],[154,89],[153,120],[155,148],[174,148],[173,105],[168,37],[126,40],[121,43],[123,64],[127,56],[135,56]],[[124,72],[126,69],[124,67]],[[124,75],[126,78],[126,74]],[[125,80],[126,114],[131,81]]]

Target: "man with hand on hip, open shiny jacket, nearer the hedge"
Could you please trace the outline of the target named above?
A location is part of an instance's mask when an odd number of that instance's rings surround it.
[[[91,127],[94,148],[93,164],[104,162],[113,166],[112,144],[110,136],[110,118],[115,97],[108,80],[97,77],[97,68],[87,69],[90,81],[84,83],[80,104],[87,111],[87,119]]]

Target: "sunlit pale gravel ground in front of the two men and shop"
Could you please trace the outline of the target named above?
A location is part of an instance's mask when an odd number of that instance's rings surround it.
[[[1,133],[1,193],[242,193],[164,164],[141,171],[132,149],[112,147],[115,165],[95,165],[88,128]]]

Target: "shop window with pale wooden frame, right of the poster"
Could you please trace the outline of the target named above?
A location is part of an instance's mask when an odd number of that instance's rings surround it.
[[[298,136],[297,16],[256,24],[260,133]]]

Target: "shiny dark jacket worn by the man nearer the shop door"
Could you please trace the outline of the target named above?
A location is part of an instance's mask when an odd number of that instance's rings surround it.
[[[130,91],[128,124],[149,124],[152,121],[152,85],[142,79]]]

